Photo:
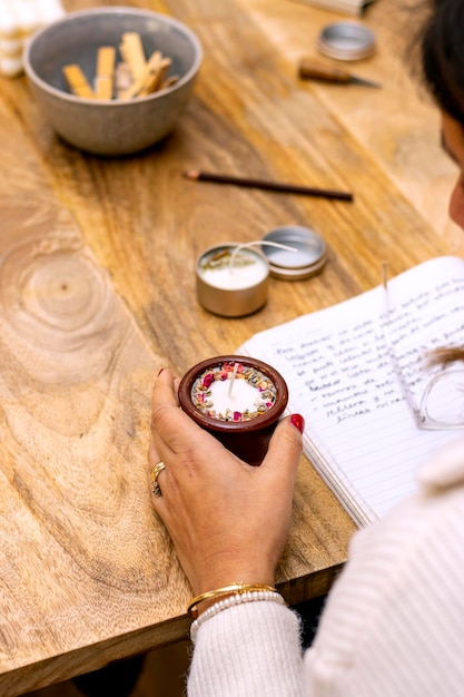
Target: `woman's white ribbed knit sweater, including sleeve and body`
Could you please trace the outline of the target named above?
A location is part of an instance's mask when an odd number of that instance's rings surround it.
[[[237,605],[198,630],[189,697],[464,697],[464,442],[358,532],[302,657],[295,613]]]

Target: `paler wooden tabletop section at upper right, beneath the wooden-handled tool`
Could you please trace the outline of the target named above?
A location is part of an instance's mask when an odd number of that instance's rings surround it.
[[[308,9],[298,0],[240,0],[295,70],[303,57],[347,69],[353,75],[381,82],[382,89],[308,82],[308,89],[334,118],[368,153],[376,165],[406,196],[418,215],[462,254],[461,229],[447,215],[447,197],[457,168],[441,148],[440,118],[418,78],[414,36],[427,3],[377,0],[357,21],[371,28],[376,50],[358,61],[337,61],[322,56],[317,38],[334,21],[349,20],[333,12]],[[355,20],[356,21],[356,20]]]

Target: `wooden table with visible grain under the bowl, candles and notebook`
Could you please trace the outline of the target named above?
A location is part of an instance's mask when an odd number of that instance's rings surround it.
[[[98,4],[67,0],[68,10]],[[0,694],[24,691],[186,636],[188,583],[151,509],[149,397],[251,334],[460,252],[446,222],[455,166],[401,62],[399,0],[365,21],[378,50],[349,65],[382,90],[302,82],[340,16],[293,0],[141,0],[200,38],[176,131],[136,157],[61,143],[26,79],[0,94]],[[402,21],[399,21],[399,19]],[[411,21],[411,17],[409,17]],[[327,59],[328,60],[328,59]],[[330,62],[330,61],[328,61]],[[185,168],[348,189],[355,203],[187,181]],[[286,223],[329,247],[319,276],[273,279],[266,307],[224,320],[195,295],[195,259]],[[278,571],[289,602],[325,592],[354,524],[303,459]]]

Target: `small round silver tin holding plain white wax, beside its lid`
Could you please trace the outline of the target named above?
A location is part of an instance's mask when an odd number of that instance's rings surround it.
[[[247,255],[256,257],[256,283],[253,279],[244,287],[225,288],[215,285],[205,278],[205,264],[216,256],[234,252],[243,247]],[[267,302],[269,286],[269,263],[267,257],[257,248],[250,248],[238,242],[225,242],[206,249],[196,265],[197,298],[200,305],[223,317],[243,317],[250,315],[263,307]]]

